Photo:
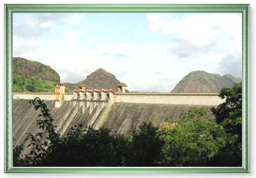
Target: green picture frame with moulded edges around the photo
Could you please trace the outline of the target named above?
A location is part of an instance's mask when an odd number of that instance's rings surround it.
[[[12,16],[26,12],[194,12],[242,14],[242,167],[13,167],[12,161]],[[5,5],[5,172],[6,173],[81,173],[81,172],[182,172],[182,173],[248,173],[249,172],[249,5],[248,4],[152,4],[152,5]]]

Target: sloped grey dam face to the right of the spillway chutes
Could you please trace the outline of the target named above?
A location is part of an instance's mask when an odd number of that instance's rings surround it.
[[[210,106],[114,103],[102,126],[114,133],[130,134],[143,123],[161,126],[167,120],[177,120],[192,108],[205,108],[209,111],[209,118],[212,116]]]

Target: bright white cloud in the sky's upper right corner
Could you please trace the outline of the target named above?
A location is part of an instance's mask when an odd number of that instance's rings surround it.
[[[241,34],[241,16],[234,14],[190,13],[186,16],[147,14],[149,29],[164,36],[182,38],[197,47],[216,42],[216,37],[236,37]]]

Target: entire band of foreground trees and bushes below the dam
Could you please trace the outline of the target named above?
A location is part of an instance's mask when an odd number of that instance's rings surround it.
[[[60,137],[53,117],[39,98],[31,101],[40,110],[41,132],[29,134],[30,153],[23,146],[13,152],[14,166],[169,166],[204,167],[242,165],[242,85],[224,88],[226,101],[213,108],[213,118],[195,109],[160,127],[143,124],[130,135],[117,135],[77,125]]]

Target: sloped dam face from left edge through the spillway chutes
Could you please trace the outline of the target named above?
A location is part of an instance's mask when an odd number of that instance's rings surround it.
[[[102,126],[113,103],[65,101],[60,108],[55,108],[54,101],[44,101],[53,116],[53,125],[60,135],[77,124]],[[13,146],[23,143],[27,133],[37,133],[38,111],[29,100],[13,99]]]

